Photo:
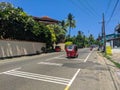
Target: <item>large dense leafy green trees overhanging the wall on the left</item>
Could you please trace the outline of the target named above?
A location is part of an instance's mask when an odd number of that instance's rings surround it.
[[[45,25],[27,15],[20,7],[7,2],[0,3],[0,39],[40,41],[47,44],[65,39],[61,25]]]

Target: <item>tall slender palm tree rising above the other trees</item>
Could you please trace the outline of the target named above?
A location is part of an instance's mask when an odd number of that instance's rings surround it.
[[[69,27],[69,37],[70,37],[71,28],[75,28],[75,26],[76,26],[74,16],[71,13],[69,13],[68,17],[67,17],[67,26]]]

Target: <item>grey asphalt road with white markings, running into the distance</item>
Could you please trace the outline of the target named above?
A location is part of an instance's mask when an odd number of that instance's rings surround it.
[[[65,52],[0,61],[0,90],[117,90],[104,60],[95,50]]]

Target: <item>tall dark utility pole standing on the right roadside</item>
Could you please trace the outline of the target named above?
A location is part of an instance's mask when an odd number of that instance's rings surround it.
[[[102,14],[102,38],[103,38],[103,52],[106,52],[106,34],[105,34],[105,19],[104,13]]]

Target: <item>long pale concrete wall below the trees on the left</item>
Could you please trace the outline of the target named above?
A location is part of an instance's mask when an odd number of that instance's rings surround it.
[[[41,53],[45,43],[0,40],[0,58]]]

